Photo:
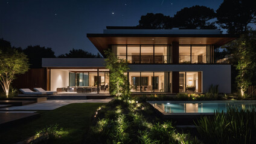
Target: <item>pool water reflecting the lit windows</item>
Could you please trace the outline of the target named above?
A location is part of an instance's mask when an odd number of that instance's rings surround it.
[[[226,112],[228,107],[256,109],[256,101],[148,101],[165,113],[214,113]]]

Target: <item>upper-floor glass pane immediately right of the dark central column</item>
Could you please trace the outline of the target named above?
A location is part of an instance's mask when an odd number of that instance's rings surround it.
[[[190,46],[179,46],[179,63],[190,63]]]

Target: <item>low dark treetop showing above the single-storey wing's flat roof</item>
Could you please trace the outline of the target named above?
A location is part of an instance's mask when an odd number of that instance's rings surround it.
[[[82,49],[72,49],[69,53],[59,55],[59,58],[101,58],[100,54],[94,55]]]

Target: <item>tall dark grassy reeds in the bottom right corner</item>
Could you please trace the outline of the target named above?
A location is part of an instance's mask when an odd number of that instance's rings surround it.
[[[256,143],[256,111],[229,107],[226,113],[203,116],[197,131],[205,143]]]

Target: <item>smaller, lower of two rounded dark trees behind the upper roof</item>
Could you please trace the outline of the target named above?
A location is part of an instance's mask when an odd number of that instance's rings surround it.
[[[146,16],[141,16],[137,27],[143,29],[171,29],[171,17],[164,16],[161,13],[147,13]]]

